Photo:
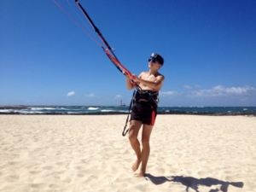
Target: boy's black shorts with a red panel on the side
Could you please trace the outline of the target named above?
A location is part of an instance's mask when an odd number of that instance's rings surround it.
[[[157,106],[150,102],[135,102],[131,107],[131,120],[142,121],[146,125],[154,125]]]

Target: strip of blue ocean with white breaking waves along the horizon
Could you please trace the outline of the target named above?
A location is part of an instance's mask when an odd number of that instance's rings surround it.
[[[129,106],[2,106],[11,114],[104,114],[128,113]],[[256,113],[256,107],[159,107],[158,113]]]

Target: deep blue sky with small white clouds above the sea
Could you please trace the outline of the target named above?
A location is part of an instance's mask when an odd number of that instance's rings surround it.
[[[74,1],[56,2],[102,44]],[[160,106],[256,106],[256,1],[79,3],[131,73],[164,57]],[[125,77],[52,0],[0,1],[0,26],[0,105],[131,101]]]

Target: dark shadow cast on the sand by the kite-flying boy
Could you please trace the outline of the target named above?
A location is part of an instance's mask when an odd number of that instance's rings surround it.
[[[219,184],[221,185],[220,189],[210,189],[209,192],[218,192],[218,191],[228,192],[228,188],[230,185],[236,188],[243,187],[242,182],[224,182],[212,177],[206,177],[206,178],[183,177],[183,176],[154,177],[151,174],[146,174],[145,177],[146,177],[146,180],[149,180],[154,184],[162,184],[166,182],[181,183],[186,187],[186,192],[189,192],[189,188],[194,189],[196,192],[200,192],[198,190],[198,187],[200,185],[207,186],[207,187],[211,187],[212,185],[219,185]]]

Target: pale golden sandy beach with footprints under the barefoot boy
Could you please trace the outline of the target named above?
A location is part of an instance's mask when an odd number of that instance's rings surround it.
[[[256,191],[256,117],[158,115],[147,175],[126,115],[0,115],[0,191]]]

